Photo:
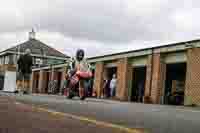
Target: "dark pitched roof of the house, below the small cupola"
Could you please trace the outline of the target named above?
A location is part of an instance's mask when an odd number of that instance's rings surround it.
[[[54,57],[62,57],[62,58],[69,57],[37,39],[29,39],[28,41],[21,43],[17,46],[11,47],[5,50],[4,52],[7,52],[7,51],[18,52],[18,47],[20,47],[20,52],[25,52],[25,50],[28,48],[28,49],[31,49],[32,54],[36,54],[36,55],[43,55],[43,51],[44,51],[46,56],[54,56]]]

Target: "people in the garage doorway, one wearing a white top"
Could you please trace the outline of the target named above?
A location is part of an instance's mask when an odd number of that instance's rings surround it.
[[[104,98],[114,98],[116,95],[117,89],[117,77],[116,74],[113,74],[112,79],[104,79],[104,86],[103,86],[103,97]]]

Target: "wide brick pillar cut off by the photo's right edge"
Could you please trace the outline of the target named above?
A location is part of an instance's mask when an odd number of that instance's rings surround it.
[[[185,105],[200,105],[200,48],[187,51]]]

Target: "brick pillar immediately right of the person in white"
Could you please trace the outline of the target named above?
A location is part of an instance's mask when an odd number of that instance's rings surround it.
[[[119,100],[128,100],[130,82],[132,81],[132,67],[128,58],[119,59],[117,67],[116,97]]]

